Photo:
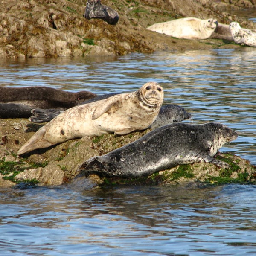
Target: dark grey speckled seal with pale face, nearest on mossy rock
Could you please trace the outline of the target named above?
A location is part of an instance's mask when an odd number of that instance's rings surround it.
[[[174,123],[145,134],[140,139],[102,156],[91,157],[79,167],[85,175],[140,177],[181,164],[227,163],[213,158],[237,133],[226,125]]]

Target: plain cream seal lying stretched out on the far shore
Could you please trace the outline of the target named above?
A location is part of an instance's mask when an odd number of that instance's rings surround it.
[[[156,23],[147,29],[176,38],[200,40],[209,38],[217,24],[218,22],[215,19],[200,20],[194,17],[186,17]]]

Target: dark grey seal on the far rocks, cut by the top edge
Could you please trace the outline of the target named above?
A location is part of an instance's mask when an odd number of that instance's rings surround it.
[[[112,8],[100,3],[100,0],[88,0],[84,11],[84,17],[90,19],[102,19],[110,25],[116,25],[119,20],[118,13]]]

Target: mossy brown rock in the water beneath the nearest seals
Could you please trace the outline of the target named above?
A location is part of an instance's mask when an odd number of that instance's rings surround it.
[[[100,137],[83,137],[69,140],[52,148],[39,149],[35,154],[17,157],[20,146],[39,128],[27,119],[0,119],[0,186],[14,186],[17,183],[37,184],[41,186],[61,185],[72,182],[77,169],[94,155],[106,154],[116,148],[137,140],[143,132],[133,132],[125,136],[105,134]],[[222,183],[256,183],[256,166],[233,154],[221,154],[218,159],[229,163],[229,169],[220,169],[210,163],[195,163],[176,166],[172,169],[157,172],[149,177],[138,179],[103,178],[89,176],[80,184],[97,186],[102,184],[152,184],[152,183],[186,183],[204,182]],[[84,185],[81,185],[84,186]],[[89,186],[89,185],[88,185]]]

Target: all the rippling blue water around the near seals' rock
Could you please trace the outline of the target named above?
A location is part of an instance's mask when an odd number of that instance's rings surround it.
[[[97,94],[157,81],[187,122],[239,133],[221,151],[256,164],[256,49],[0,60],[1,86]],[[256,186],[0,189],[0,255],[256,255]]]

